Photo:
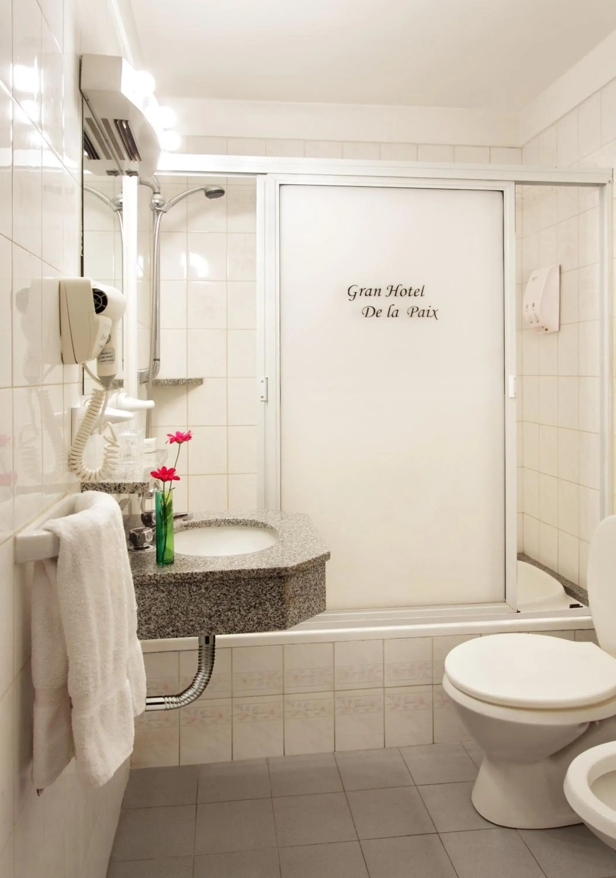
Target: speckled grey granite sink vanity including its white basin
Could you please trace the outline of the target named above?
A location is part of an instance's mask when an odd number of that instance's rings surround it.
[[[282,631],[326,609],[329,552],[307,515],[195,513],[174,543],[173,564],[130,552],[141,640]]]

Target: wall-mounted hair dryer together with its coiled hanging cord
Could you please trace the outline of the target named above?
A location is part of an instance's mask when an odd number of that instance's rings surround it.
[[[65,277],[60,281],[62,361],[80,363],[100,385],[92,392],[68,455],[70,471],[85,482],[110,479],[118,465],[118,440],[111,425],[105,435],[103,464],[97,470],[85,466],[83,452],[97,423],[104,427],[111,383],[118,372],[118,323],[125,309],[125,298],[115,287],[93,283],[89,277]],[[97,375],[87,365],[95,358]]]

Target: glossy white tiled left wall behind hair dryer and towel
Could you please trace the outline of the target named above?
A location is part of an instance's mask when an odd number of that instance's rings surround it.
[[[88,41],[77,18],[97,41]],[[0,875],[104,878],[127,766],[32,787],[29,594],[12,534],[71,487],[57,287],[80,274],[78,55],[117,52],[104,3],[0,0]],[[11,84],[12,83],[12,84]]]

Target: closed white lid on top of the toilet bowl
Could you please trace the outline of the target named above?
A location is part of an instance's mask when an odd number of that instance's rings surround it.
[[[448,653],[445,673],[462,692],[509,707],[583,707],[616,695],[616,659],[595,644],[539,634],[469,640]]]

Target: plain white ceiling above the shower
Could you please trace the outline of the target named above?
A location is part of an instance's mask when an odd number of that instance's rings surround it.
[[[165,97],[518,111],[616,28],[614,0],[132,0]]]

